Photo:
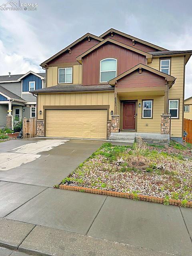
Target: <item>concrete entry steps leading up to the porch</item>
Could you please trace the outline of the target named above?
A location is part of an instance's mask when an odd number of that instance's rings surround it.
[[[109,140],[111,142],[126,142],[133,144],[135,141],[135,132],[111,132]]]

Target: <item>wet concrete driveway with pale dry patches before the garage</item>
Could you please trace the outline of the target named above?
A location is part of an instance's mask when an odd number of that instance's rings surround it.
[[[52,187],[102,143],[98,140],[45,138],[0,143],[0,180]]]

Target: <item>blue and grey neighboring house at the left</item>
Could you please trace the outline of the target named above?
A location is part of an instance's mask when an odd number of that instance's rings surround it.
[[[45,73],[0,76],[0,128],[12,128],[15,116],[36,117],[36,97],[29,91],[45,87]]]

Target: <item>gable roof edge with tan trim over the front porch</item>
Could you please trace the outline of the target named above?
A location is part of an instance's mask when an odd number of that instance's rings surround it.
[[[174,81],[176,80],[176,78],[174,78],[174,76],[170,76],[168,74],[165,74],[163,72],[160,72],[154,68],[150,68],[149,66],[146,66],[144,64],[138,64],[136,66],[134,66],[133,68],[130,68],[129,70],[127,70],[126,72],[120,74],[119,76],[113,78],[112,80],[110,80],[108,83],[111,85],[111,86],[114,86],[115,85],[115,82],[124,78],[125,76],[128,76],[129,74],[131,74],[132,72],[136,71],[137,69],[139,68],[143,68],[144,70],[147,70],[149,72],[152,72],[153,74],[156,74],[158,76],[162,76],[163,78],[165,78],[168,82],[168,84],[170,86],[172,86],[174,84]]]

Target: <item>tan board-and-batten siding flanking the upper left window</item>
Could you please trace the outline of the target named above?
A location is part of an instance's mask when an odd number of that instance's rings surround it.
[[[67,65],[60,65],[59,68],[67,68]],[[73,65],[72,84],[82,83],[82,65]],[[58,85],[58,66],[49,67],[47,70],[46,87]]]

